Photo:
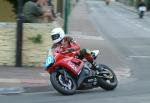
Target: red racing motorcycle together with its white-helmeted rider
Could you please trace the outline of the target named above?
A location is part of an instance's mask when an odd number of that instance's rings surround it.
[[[95,61],[99,50],[80,50],[80,45],[72,37],[65,36],[62,28],[53,29],[50,35],[53,50],[49,51],[44,67],[59,93],[72,95],[76,90],[97,87],[113,90],[117,87],[113,70],[104,64],[97,65]]]

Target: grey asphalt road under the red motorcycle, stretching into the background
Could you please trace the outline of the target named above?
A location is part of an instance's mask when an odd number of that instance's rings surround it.
[[[150,19],[120,7],[106,6],[98,0],[87,1],[90,19],[99,32],[99,38],[81,38],[82,46],[101,49],[102,63],[114,70],[131,71],[130,77],[121,79],[117,89],[104,91],[100,88],[77,91],[75,95],[63,96],[55,90],[42,93],[2,95],[1,103],[149,103],[150,101]],[[90,40],[91,42],[89,43]],[[99,44],[99,45],[98,45]],[[96,45],[96,46],[94,46]],[[105,46],[102,46],[105,45]],[[105,51],[103,51],[105,49]],[[111,56],[113,55],[112,58]],[[126,82],[125,82],[126,81]]]

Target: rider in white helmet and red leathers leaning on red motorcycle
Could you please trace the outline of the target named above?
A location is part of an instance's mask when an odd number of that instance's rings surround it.
[[[62,28],[54,28],[51,31],[51,39],[53,41],[52,49],[58,53],[69,53],[78,51],[77,56],[80,59],[87,59],[90,63],[93,62],[93,57],[87,49],[80,50],[80,45],[70,36],[65,36]]]

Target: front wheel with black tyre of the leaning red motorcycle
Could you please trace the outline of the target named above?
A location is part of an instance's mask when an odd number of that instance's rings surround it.
[[[51,73],[50,81],[53,87],[63,95],[72,95],[77,88],[74,78],[65,69]]]

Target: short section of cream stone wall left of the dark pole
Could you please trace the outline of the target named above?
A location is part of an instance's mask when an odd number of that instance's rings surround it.
[[[0,24],[0,65],[15,64],[15,24]]]

